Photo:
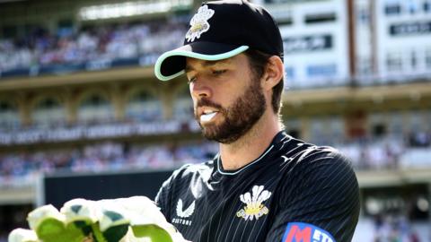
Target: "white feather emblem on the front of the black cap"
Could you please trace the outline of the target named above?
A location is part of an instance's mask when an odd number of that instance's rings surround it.
[[[207,5],[199,7],[198,13],[196,13],[190,20],[190,29],[186,33],[186,39],[188,42],[192,42],[195,39],[199,39],[200,35],[209,30],[208,20],[214,15],[214,10],[208,9]]]

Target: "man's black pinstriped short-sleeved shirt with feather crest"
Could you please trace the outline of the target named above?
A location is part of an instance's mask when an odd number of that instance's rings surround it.
[[[339,151],[276,135],[260,157],[224,170],[220,157],[174,171],[155,198],[191,241],[350,241],[359,192]]]

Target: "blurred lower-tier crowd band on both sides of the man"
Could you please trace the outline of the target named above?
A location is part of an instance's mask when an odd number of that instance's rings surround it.
[[[420,136],[430,137],[430,134]],[[431,167],[430,143],[387,136],[373,141],[333,144],[352,160],[357,170]],[[101,172],[121,169],[172,169],[184,163],[210,160],[216,143],[95,143],[50,151],[0,153],[0,184],[20,186],[31,183],[40,172],[61,169]],[[19,182],[16,182],[19,181]]]

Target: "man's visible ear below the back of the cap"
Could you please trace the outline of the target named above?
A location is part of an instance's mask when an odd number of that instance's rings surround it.
[[[270,56],[268,64],[265,67],[265,73],[262,76],[262,87],[266,90],[272,90],[280,82],[285,73],[285,65],[279,56]]]

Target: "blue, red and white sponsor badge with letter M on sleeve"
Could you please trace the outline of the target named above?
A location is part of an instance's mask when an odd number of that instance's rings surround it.
[[[289,222],[282,242],[335,242],[329,232],[309,223]]]

